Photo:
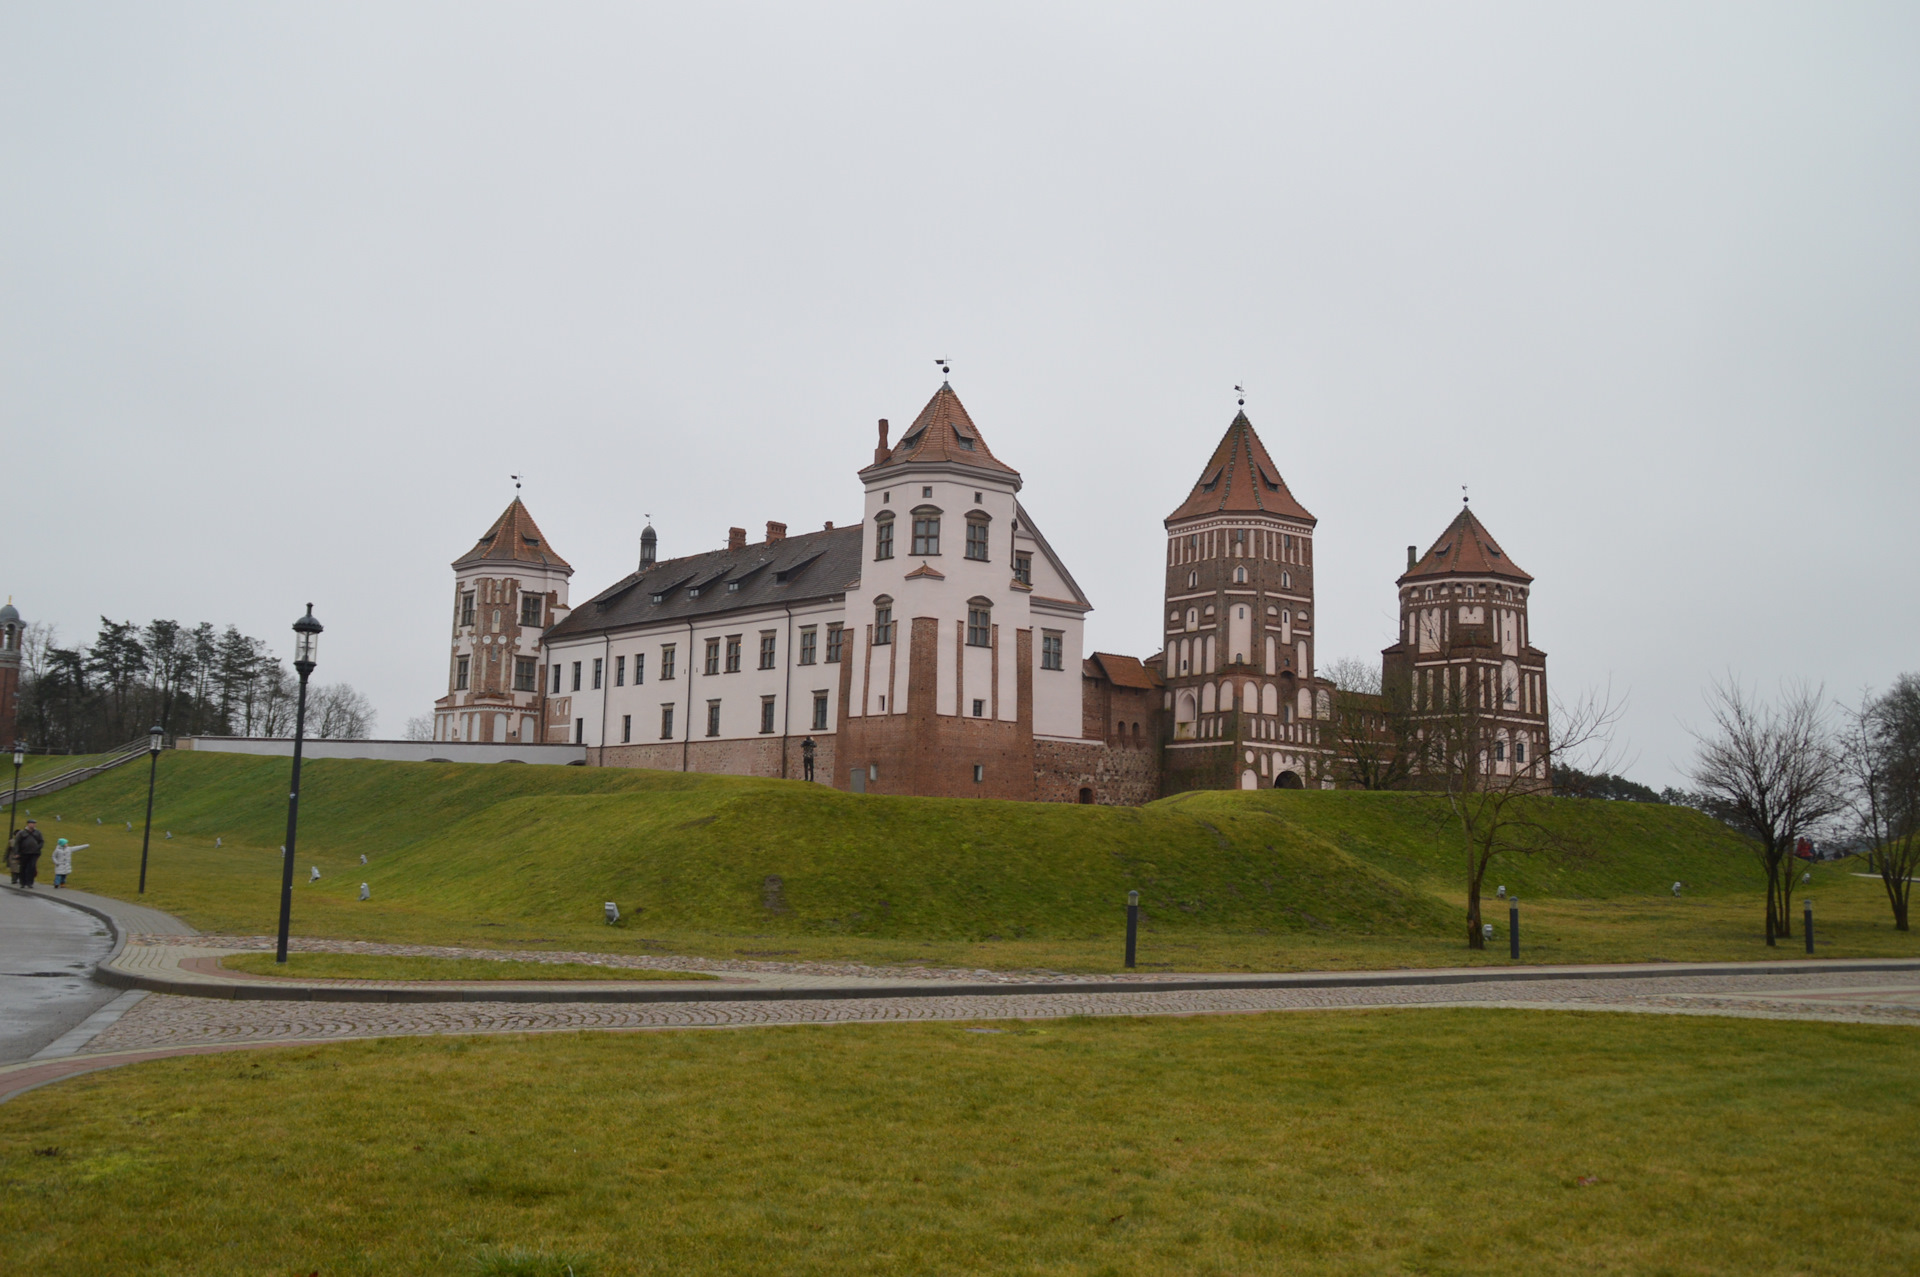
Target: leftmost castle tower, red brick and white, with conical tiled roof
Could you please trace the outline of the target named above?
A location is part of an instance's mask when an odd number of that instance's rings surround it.
[[[572,574],[520,497],[453,561],[453,653],[447,695],[434,701],[436,741],[541,739],[540,638],[566,616]]]

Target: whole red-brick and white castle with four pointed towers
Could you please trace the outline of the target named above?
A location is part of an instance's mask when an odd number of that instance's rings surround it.
[[[879,422],[858,478],[849,526],[732,528],[666,561],[649,526],[636,570],[580,607],[515,497],[453,561],[434,739],[854,793],[1137,805],[1342,783],[1329,724],[1346,693],[1315,676],[1317,520],[1244,411],[1165,520],[1165,645],[1144,661],[1085,653],[1092,603],[950,384],[897,444]],[[1425,557],[1407,547],[1382,672],[1480,697],[1501,760],[1544,782],[1530,582],[1463,509]]]

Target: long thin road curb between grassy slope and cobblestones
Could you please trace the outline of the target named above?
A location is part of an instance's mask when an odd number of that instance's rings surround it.
[[[211,981],[146,976],[102,964],[94,979],[117,989],[148,989],[194,999],[232,1002],[808,1002],[925,997],[1021,997],[1058,993],[1204,993],[1210,989],[1380,989],[1394,985],[1480,985],[1532,983],[1544,979],[1678,979],[1686,976],[1805,976],[1809,972],[1920,972],[1916,958],[1818,960],[1812,962],[1688,962],[1661,968],[1486,968],[1444,972],[1344,972],[1302,976],[1236,976],[1227,979],[1100,979],[1044,983],[968,983],[939,979],[912,985],[785,985],[778,989],[697,987],[697,989],[509,989],[476,987],[328,987],[278,985],[265,981]]]

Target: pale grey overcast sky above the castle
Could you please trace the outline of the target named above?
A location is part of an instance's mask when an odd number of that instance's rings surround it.
[[[1235,411],[1321,663],[1471,484],[1567,695],[1920,668],[1912,4],[0,4],[0,593],[236,622],[397,735],[513,495],[574,601],[860,513],[935,357],[1158,649]]]

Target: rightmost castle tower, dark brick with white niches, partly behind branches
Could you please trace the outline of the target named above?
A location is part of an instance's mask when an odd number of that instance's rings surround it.
[[[1548,655],[1528,636],[1532,580],[1463,505],[1425,555],[1407,545],[1400,641],[1380,668],[1411,689],[1415,711],[1463,705],[1490,743],[1494,778],[1519,768],[1546,789]]]

